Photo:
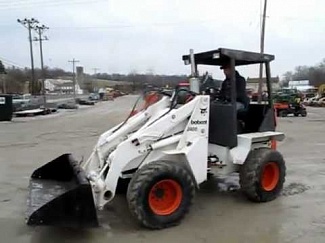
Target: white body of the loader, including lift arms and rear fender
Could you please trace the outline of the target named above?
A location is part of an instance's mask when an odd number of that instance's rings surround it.
[[[81,164],[98,209],[114,198],[119,178],[132,177],[145,164],[182,163],[199,187],[209,170],[220,175],[236,172],[252,149],[270,147],[271,139],[284,139],[283,133],[269,131],[238,135],[238,145],[231,149],[209,144],[210,96],[197,95],[184,105],[170,107],[171,100],[162,97],[100,136],[89,159]]]

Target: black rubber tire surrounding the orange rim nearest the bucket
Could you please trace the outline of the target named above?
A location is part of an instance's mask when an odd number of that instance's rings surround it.
[[[178,183],[182,192],[179,206],[167,215],[155,213],[149,203],[151,189],[156,183],[163,180],[172,180]],[[157,191],[156,193],[158,193]],[[162,194],[165,194],[164,190]],[[128,187],[127,201],[131,214],[143,226],[151,229],[162,229],[180,223],[188,213],[194,195],[193,176],[185,166],[170,161],[156,161],[143,166],[135,173]]]

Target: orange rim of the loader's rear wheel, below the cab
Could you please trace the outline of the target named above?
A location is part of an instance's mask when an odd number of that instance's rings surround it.
[[[277,163],[267,163],[262,172],[262,188],[265,191],[272,191],[277,186],[279,178],[280,170]]]

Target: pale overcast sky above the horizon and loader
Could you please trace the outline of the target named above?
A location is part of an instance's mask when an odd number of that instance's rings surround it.
[[[273,76],[325,57],[325,1],[269,0],[265,52]],[[0,0],[0,60],[30,66],[28,31],[17,18],[50,27],[44,43],[49,67],[85,72],[188,74],[181,56],[218,47],[259,51],[261,0]],[[35,66],[39,46],[33,44]],[[221,70],[201,67],[215,78]],[[240,68],[257,76],[258,68]]]

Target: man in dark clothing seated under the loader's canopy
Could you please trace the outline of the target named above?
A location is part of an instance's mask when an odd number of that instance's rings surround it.
[[[224,64],[220,67],[223,69],[223,72],[226,76],[226,79],[223,81],[221,90],[220,90],[220,98],[222,100],[231,101],[231,67],[230,64]],[[245,78],[240,76],[238,71],[235,74],[236,81],[236,109],[241,110],[247,107],[249,104],[249,97],[246,94],[246,81]]]

